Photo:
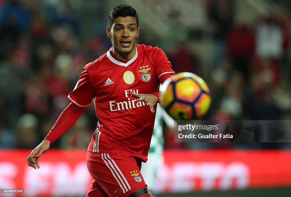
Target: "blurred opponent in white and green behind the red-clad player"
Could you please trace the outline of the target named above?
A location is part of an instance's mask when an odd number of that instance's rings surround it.
[[[168,129],[174,129],[174,120],[157,103],[155,126],[152,132],[152,140],[150,142],[150,150],[148,151],[148,161],[141,165],[141,174],[148,185],[148,190],[152,194],[154,191],[157,175],[164,162],[164,136],[163,136],[163,120]]]

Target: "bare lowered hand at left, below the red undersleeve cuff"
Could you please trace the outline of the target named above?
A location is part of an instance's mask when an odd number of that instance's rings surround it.
[[[39,168],[38,157],[42,155],[42,153],[49,150],[50,142],[48,140],[43,140],[35,149],[31,151],[29,156],[26,158],[27,164],[34,169]]]

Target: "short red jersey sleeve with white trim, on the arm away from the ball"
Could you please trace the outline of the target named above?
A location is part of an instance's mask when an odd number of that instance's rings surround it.
[[[79,107],[88,107],[95,96],[95,91],[96,89],[93,82],[86,70],[86,67],[84,67],[81,77],[74,90],[68,95],[68,99],[70,102]]]

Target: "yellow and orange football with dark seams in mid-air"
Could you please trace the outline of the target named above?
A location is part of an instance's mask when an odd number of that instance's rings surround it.
[[[210,90],[198,75],[180,72],[162,84],[160,101],[174,120],[196,120],[209,109]]]

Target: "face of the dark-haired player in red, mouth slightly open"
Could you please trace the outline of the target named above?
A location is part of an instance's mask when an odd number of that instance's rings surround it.
[[[107,27],[107,35],[111,38],[114,55],[117,58],[133,58],[136,54],[136,38],[139,37],[139,28],[134,17],[117,17],[112,28]]]

